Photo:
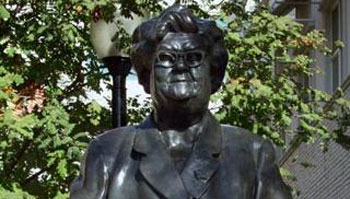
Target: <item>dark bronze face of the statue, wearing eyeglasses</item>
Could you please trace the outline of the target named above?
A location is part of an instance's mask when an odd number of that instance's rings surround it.
[[[180,102],[191,108],[207,108],[211,77],[204,44],[198,34],[169,33],[163,38],[151,77],[151,94],[156,104]]]

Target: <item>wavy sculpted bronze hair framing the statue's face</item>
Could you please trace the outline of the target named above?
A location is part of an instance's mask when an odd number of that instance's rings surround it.
[[[228,61],[223,33],[214,21],[199,19],[178,4],[169,7],[160,16],[142,23],[133,33],[131,61],[144,90],[150,93],[154,53],[158,43],[168,33],[194,33],[205,38],[209,47],[211,92],[215,93],[222,84]]]

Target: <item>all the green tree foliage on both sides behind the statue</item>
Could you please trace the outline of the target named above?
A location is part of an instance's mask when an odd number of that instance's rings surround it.
[[[155,15],[166,2],[0,2],[0,198],[68,198],[82,152],[95,135],[111,128],[110,110],[86,96],[109,82],[90,43],[90,20],[111,19],[116,3],[130,17],[131,12]],[[263,8],[267,1],[256,1],[251,12],[244,9],[246,2],[182,1],[225,31],[230,62],[223,89],[213,96],[217,118],[280,146],[286,145],[286,135],[309,143],[320,136],[324,150],[331,139],[347,146],[343,132],[350,102],[340,89],[331,96],[300,83],[320,72],[310,52],[330,52],[323,34],[305,33],[290,18],[273,16]],[[220,12],[207,12],[213,9]],[[130,47],[130,39],[122,41]],[[128,102],[131,124],[150,111],[137,99]],[[337,120],[339,129],[328,132],[326,119]],[[291,128],[294,120],[297,129]]]

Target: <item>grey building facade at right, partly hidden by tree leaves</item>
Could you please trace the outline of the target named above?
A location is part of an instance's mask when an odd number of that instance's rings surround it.
[[[324,73],[307,80],[307,84],[334,93],[338,87],[350,99],[350,0],[272,0],[271,11],[290,15],[305,25],[305,31],[324,30],[332,55],[313,53]],[[338,48],[342,41],[344,47]],[[328,122],[331,132],[336,128]],[[349,132],[350,133],[350,132]],[[299,199],[349,199],[350,151],[332,142],[323,152],[318,142],[290,146],[280,160],[296,178],[288,184],[298,191]]]

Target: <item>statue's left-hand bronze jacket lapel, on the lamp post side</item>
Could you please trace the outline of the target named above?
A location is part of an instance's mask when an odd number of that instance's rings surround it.
[[[144,154],[140,161],[140,172],[153,189],[167,199],[188,198],[151,116],[139,126],[134,149]]]

